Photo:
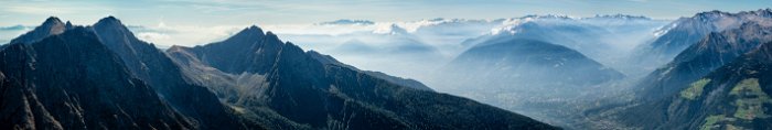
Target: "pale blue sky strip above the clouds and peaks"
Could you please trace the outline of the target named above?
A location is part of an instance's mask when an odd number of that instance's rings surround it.
[[[34,25],[50,15],[90,24],[106,15],[125,23],[287,24],[337,19],[409,21],[497,19],[526,14],[634,14],[676,19],[709,10],[770,8],[772,0],[2,0],[0,26]]]

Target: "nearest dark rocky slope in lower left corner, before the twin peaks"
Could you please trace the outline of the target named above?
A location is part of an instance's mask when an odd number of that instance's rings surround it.
[[[2,129],[191,129],[94,32],[0,51]]]

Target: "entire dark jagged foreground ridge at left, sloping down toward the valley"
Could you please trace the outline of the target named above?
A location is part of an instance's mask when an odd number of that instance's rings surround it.
[[[50,18],[13,41],[0,50],[2,129],[558,129],[257,26],[162,52],[114,17]]]

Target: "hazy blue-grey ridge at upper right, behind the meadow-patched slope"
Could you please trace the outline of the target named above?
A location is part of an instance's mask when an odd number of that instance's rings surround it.
[[[631,62],[660,66],[668,63],[682,51],[699,42],[711,32],[737,29],[749,21],[769,21],[772,10],[758,10],[739,13],[710,11],[682,18],[655,32],[656,40],[637,46]]]

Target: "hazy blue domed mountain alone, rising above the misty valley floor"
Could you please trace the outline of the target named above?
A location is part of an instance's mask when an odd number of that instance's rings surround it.
[[[490,41],[476,45],[449,63],[443,71],[447,72],[442,75],[455,74],[462,76],[458,79],[479,80],[483,86],[515,80],[529,83],[527,85],[540,85],[542,82],[537,80],[545,79],[551,80],[545,83],[554,86],[586,86],[623,77],[621,73],[604,67],[571,48],[528,39]],[[596,72],[604,73],[593,77],[581,76]]]

